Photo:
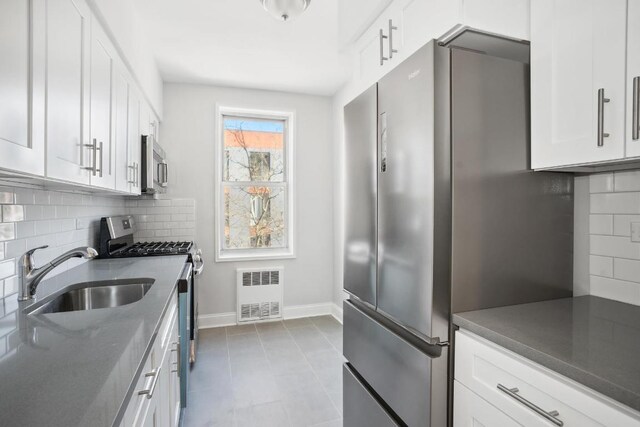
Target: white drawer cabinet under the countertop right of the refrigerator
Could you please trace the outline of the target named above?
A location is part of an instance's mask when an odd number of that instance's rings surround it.
[[[454,426],[640,426],[640,414],[467,331],[456,332]]]

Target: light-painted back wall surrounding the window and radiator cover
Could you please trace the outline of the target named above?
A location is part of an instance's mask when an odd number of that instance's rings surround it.
[[[291,260],[214,262],[215,109],[293,111],[296,254]],[[261,90],[166,84],[162,144],[170,164],[168,198],[196,200],[196,242],[203,250],[200,315],[235,311],[235,269],[285,268],[284,306],[329,303],[334,280],[334,171],[331,99]]]

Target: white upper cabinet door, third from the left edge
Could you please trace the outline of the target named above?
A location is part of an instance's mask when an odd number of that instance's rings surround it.
[[[114,66],[116,53],[95,20],[91,26],[91,144],[95,171],[91,185],[115,188],[114,144],[111,138]]]

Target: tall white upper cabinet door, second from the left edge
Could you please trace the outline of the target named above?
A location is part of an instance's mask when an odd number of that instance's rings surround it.
[[[47,176],[89,184],[91,15],[83,0],[46,2]]]

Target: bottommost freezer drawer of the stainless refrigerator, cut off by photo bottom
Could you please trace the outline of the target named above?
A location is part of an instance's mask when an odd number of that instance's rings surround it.
[[[347,363],[342,367],[344,427],[396,427],[393,416],[367,390]]]

